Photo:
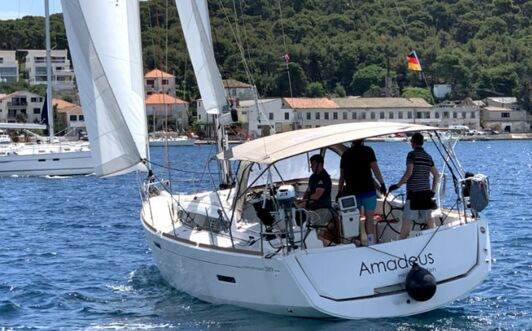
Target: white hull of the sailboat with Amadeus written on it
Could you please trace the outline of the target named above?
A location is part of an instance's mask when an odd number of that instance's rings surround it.
[[[370,248],[339,245],[271,258],[200,244],[179,237],[179,230],[174,235],[142,223],[155,263],[173,287],[208,302],[274,314],[343,319],[419,314],[466,295],[491,269],[489,231],[480,220]],[[438,282],[425,302],[412,299],[403,285],[407,261],[417,254]]]

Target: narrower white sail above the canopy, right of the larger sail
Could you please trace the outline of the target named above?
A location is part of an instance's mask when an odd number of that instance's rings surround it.
[[[207,0],[176,0],[181,28],[208,114],[219,114],[227,104],[212,48]]]

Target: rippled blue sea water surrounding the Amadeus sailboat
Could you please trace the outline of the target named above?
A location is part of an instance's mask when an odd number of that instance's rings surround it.
[[[370,143],[386,184],[409,144]],[[437,158],[438,151],[427,147]],[[207,190],[213,146],[151,150],[174,191]],[[139,222],[136,174],[98,179],[0,178],[0,330],[493,330],[532,329],[532,141],[460,142],[464,169],[489,175],[489,277],[465,298],[411,317],[342,321],[213,305],[170,287]],[[438,168],[442,168],[437,161]],[[306,166],[306,165],[302,165]],[[327,165],[325,165],[327,167]],[[447,190],[453,190],[452,181]]]

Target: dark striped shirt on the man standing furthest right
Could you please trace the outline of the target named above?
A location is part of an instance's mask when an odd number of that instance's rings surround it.
[[[432,157],[422,147],[408,153],[406,165],[413,164],[414,170],[406,182],[406,190],[410,192],[429,191],[430,169],[434,166]]]

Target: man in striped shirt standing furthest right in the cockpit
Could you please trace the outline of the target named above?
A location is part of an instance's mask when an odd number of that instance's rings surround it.
[[[434,166],[432,157],[423,149],[421,133],[414,133],[410,143],[413,150],[406,157],[406,171],[397,184],[390,186],[390,191],[393,191],[406,183],[406,203],[399,239],[408,237],[412,228],[412,220],[424,221],[429,228],[434,227],[431,206],[432,198],[438,187],[438,170]],[[432,188],[430,174],[432,174]]]

